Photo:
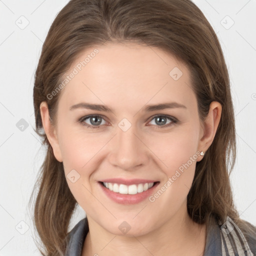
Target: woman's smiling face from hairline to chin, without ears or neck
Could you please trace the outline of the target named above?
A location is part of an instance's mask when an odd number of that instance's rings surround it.
[[[187,67],[158,48],[108,43],[84,51],[66,75],[51,145],[89,222],[137,235],[183,217],[199,152],[209,146]],[[133,185],[114,185],[117,193],[99,182],[114,178]],[[157,183],[146,190],[136,179]],[[138,186],[145,191],[124,194]]]

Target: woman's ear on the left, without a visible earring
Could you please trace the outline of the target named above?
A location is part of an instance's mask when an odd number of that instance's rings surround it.
[[[62,155],[60,152],[58,138],[56,135],[56,127],[53,126],[50,120],[48,105],[46,101],[41,102],[40,113],[42,118],[43,129],[53,149],[54,156],[59,162],[62,162]]]

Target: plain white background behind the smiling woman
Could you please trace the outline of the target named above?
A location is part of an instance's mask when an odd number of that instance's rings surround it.
[[[0,0],[1,256],[40,255],[33,240],[35,231],[27,209],[45,153],[32,129],[35,127],[33,76],[50,24],[67,2]],[[211,23],[224,51],[237,134],[237,159],[231,174],[234,201],[240,217],[256,225],[256,1],[194,2]],[[16,25],[18,22],[29,24],[20,29]],[[232,22],[234,24],[230,26]],[[23,131],[16,126],[21,118],[28,123]],[[69,229],[84,216],[79,206]],[[21,234],[26,227],[28,230]]]

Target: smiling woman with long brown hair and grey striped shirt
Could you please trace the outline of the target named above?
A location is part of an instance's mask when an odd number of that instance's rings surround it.
[[[34,208],[43,255],[255,255],[228,178],[226,64],[191,1],[69,1],[33,100],[47,146]],[[86,217],[68,232],[77,204]]]

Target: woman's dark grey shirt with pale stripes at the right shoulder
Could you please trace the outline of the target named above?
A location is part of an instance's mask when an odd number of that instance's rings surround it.
[[[254,235],[246,240],[242,231],[230,217],[227,216],[223,224],[216,221],[214,225],[207,228],[203,256],[255,256],[256,227],[252,227]],[[88,231],[88,220],[85,217],[68,232],[69,242],[65,256],[81,256]]]

